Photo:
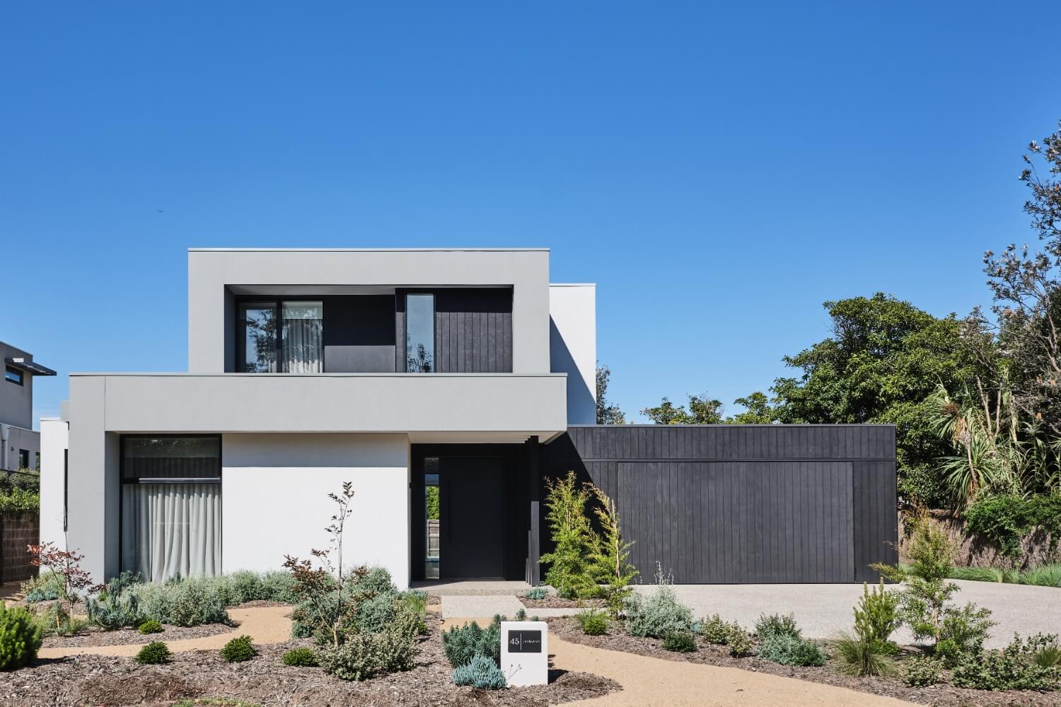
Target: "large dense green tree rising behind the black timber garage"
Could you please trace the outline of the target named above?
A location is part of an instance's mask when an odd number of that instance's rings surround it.
[[[943,503],[936,461],[952,448],[939,435],[932,396],[941,384],[962,389],[979,372],[960,342],[963,322],[883,293],[824,306],[832,336],[784,358],[802,374],[775,381],[778,420],[894,423],[900,495],[906,502]]]

